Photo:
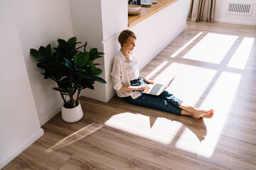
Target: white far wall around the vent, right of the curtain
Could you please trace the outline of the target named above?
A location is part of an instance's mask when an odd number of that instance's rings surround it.
[[[238,23],[245,25],[256,26],[256,0],[231,0],[238,2],[254,2],[253,11],[250,16],[247,15],[238,15],[227,13],[228,2],[223,0],[217,0],[215,6],[215,16],[214,21],[220,23]]]

